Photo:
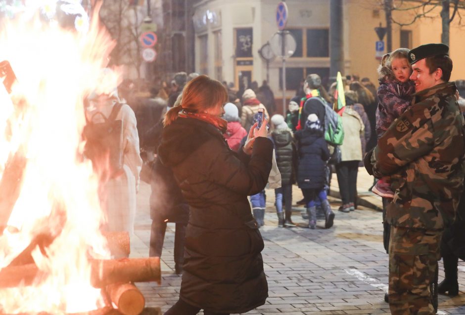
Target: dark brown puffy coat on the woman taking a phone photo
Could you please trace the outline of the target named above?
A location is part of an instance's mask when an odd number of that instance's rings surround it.
[[[248,195],[261,192],[273,143],[257,138],[253,153],[233,152],[213,125],[178,118],[163,130],[158,155],[190,207],[180,298],[215,313],[245,313],[265,304],[264,243]]]

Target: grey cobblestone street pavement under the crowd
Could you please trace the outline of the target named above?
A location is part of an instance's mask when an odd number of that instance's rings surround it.
[[[370,185],[369,185],[370,186]],[[368,187],[369,187],[368,186]],[[136,237],[131,240],[131,257],[146,257],[150,236],[148,196],[150,188],[142,183],[138,195]],[[294,187],[294,200],[301,198]],[[388,256],[382,244],[381,213],[366,207],[350,213],[337,211],[340,200],[330,198],[336,212],[334,226],[325,230],[324,220],[317,229],[305,228],[300,209],[294,208],[297,228],[278,228],[274,192],[267,190],[263,261],[268,278],[267,303],[247,314],[326,315],[386,314]],[[303,208],[302,208],[303,210]],[[138,283],[146,306],[166,311],[179,296],[181,277],[174,273],[174,224],[169,223],[161,257],[162,281]],[[443,276],[440,264],[440,281]],[[459,270],[465,271],[460,262]],[[460,289],[465,288],[465,273],[459,273]],[[465,314],[465,294],[439,297],[438,314]],[[202,314],[202,313],[200,313]]]

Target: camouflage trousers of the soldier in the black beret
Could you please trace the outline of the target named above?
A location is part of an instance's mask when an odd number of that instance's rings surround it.
[[[389,308],[393,315],[435,315],[442,231],[391,227]]]

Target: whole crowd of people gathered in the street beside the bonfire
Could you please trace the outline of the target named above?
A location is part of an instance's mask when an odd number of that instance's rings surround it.
[[[385,205],[392,314],[435,314],[437,292],[458,294],[457,264],[465,258],[463,99],[451,71],[446,45],[399,48],[383,57],[378,88],[346,77],[345,106],[337,108],[336,82],[327,91],[310,74],[285,116],[266,81],[235,91],[196,73],[177,73],[169,87],[145,87],[142,97],[131,83],[119,95],[91,95],[90,108],[123,120],[125,181],[107,176],[106,189],[129,185],[128,196],[121,189],[113,195],[134,206],[140,168],[151,184],[150,256],[161,256],[166,223],[176,223],[175,269],[183,280],[180,300],[165,314],[244,313],[264,304],[265,188],[274,189],[278,227],[296,227],[295,202],[305,206],[308,228],[316,228],[321,211],[329,229],[336,216],[327,198],[332,172],[338,210],[350,213],[361,166],[377,179],[372,191]],[[115,107],[125,101],[130,106]],[[302,200],[292,200],[294,184]],[[123,212],[109,214],[110,230],[132,231],[134,211]],[[441,253],[446,277],[438,285]]]

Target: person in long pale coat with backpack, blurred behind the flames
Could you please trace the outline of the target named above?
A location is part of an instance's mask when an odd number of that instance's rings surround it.
[[[104,69],[102,79],[108,86],[108,80],[114,78],[111,70]],[[109,91],[95,89],[88,97],[86,107],[86,118],[89,123],[103,122],[110,117],[113,108],[120,104],[118,92],[115,84]],[[110,84],[111,85],[111,84]],[[97,112],[103,115],[95,115]],[[136,115],[127,104],[122,104],[119,108],[115,120],[122,121],[122,167],[115,174],[102,176],[102,169],[106,165],[95,165],[94,169],[99,170],[100,185],[99,198],[102,210],[105,213],[106,223],[103,230],[106,231],[128,231],[130,236],[134,233],[134,219],[136,214],[136,194],[139,187],[139,172],[142,159],[139,152],[139,136],[137,132]],[[106,172],[106,174],[110,174]]]

